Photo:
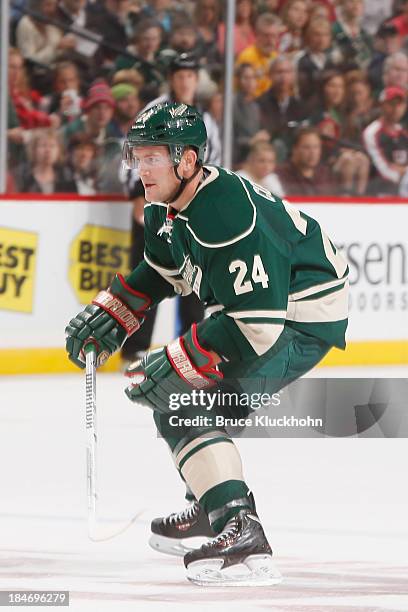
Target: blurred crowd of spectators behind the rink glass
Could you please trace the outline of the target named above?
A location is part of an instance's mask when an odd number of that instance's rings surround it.
[[[13,2],[8,191],[132,193],[124,138],[157,101],[197,106],[220,164],[225,11]],[[237,0],[234,53],[234,170],[278,195],[408,197],[408,0]]]

